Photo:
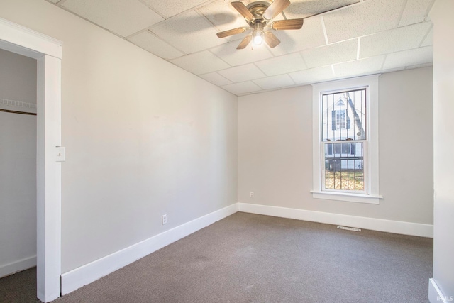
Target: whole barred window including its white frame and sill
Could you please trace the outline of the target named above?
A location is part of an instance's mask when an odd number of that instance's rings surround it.
[[[377,82],[370,76],[313,85],[313,197],[379,203]]]

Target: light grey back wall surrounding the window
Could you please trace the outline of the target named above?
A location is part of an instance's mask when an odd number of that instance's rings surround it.
[[[240,97],[238,201],[433,224],[432,99],[431,67],[379,77],[375,205],[312,198],[311,86]]]

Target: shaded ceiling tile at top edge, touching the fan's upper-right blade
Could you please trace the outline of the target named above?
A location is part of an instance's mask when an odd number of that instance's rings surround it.
[[[292,1],[292,4],[285,9],[284,13],[289,19],[307,18],[318,13],[324,13],[343,6],[355,4],[359,1],[360,0],[297,0]]]

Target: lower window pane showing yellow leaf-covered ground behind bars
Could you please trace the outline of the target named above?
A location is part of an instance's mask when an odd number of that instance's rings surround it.
[[[364,143],[325,143],[325,189],[364,190]]]

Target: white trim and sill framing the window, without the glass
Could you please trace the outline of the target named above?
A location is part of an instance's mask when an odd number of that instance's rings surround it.
[[[369,204],[379,204],[382,196],[379,194],[378,187],[378,77],[372,75],[350,79],[337,80],[312,84],[312,116],[314,119],[313,131],[313,162],[312,180],[314,182],[311,193],[316,199],[338,200],[346,202],[359,202]],[[367,87],[366,109],[367,109],[367,138],[369,141],[367,148],[367,172],[369,178],[366,182],[367,194],[350,192],[333,192],[321,190],[321,94],[335,92],[338,90],[356,89]]]

